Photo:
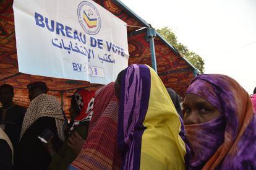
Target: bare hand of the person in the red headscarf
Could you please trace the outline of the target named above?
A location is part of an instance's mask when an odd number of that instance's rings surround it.
[[[83,140],[83,138],[80,137],[76,131],[74,131],[74,133],[68,139],[67,146],[74,151],[75,155],[79,155],[84,143],[85,140]]]

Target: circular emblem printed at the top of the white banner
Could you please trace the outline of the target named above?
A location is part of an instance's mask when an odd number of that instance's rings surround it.
[[[81,27],[86,33],[95,35],[100,31],[100,13],[91,2],[80,2],[77,8],[77,16]]]

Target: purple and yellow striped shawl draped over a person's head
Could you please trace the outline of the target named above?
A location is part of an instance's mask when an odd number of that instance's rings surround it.
[[[118,122],[122,169],[185,169],[181,121],[150,67],[134,64],[124,70]]]

